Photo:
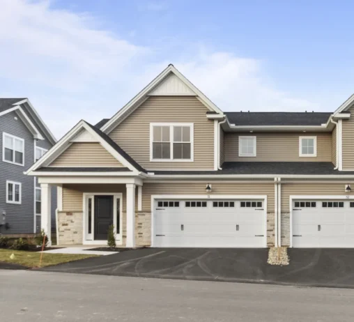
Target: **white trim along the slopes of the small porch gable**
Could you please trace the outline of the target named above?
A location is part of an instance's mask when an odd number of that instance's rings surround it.
[[[118,153],[118,151],[116,151],[111,144],[100,137],[100,135],[98,135],[98,133],[96,133],[85,121],[79,121],[79,123],[77,123],[77,125],[75,125],[75,127],[72,128],[64,137],[62,137],[55,144],[55,146],[53,146],[53,148],[45,153],[43,158],[40,158],[40,160],[33,164],[33,166],[30,167],[24,174],[36,176],[36,173],[33,173],[33,171],[36,171],[41,167],[48,167],[49,164],[54,162],[54,160],[59,157],[59,155],[66,151],[66,149],[72,144],[72,139],[75,139],[77,135],[79,135],[79,137],[87,137],[87,135],[82,135],[82,132],[88,132],[88,134],[100,143],[109,153],[111,153],[111,155],[113,155],[118,162],[123,164],[123,167],[127,167],[130,171],[133,171],[134,174],[139,174],[140,171],[138,169],[136,169],[130,162],[128,162],[128,160]]]

